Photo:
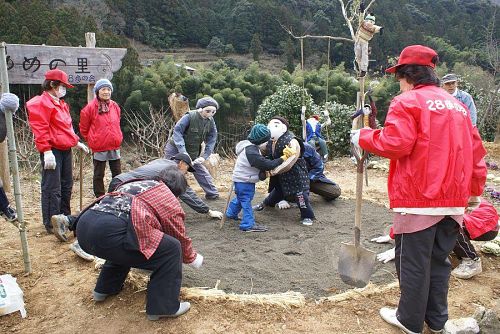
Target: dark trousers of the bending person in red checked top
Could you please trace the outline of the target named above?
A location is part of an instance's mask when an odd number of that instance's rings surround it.
[[[182,250],[177,239],[165,234],[156,252],[146,259],[139,251],[132,222],[94,210],[79,217],[77,236],[84,251],[106,260],[96,292],[119,293],[131,267],[150,270],[146,313],[177,312],[182,282]]]

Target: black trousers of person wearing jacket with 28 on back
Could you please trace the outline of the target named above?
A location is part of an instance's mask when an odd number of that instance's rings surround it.
[[[448,284],[459,225],[450,217],[425,230],[396,235],[396,271],[401,297],[398,320],[413,332],[424,322],[442,329],[448,320]]]

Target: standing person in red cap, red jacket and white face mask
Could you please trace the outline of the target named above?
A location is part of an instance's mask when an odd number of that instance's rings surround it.
[[[28,121],[42,163],[42,220],[48,233],[52,233],[50,217],[71,214],[71,148],[78,147],[89,152],[73,130],[69,106],[62,99],[66,88],[73,88],[68,82],[68,75],[59,69],[49,70],[42,83],[43,93],[26,103]]]

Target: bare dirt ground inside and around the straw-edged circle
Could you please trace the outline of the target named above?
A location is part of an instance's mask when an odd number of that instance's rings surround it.
[[[498,161],[498,159],[497,159]],[[222,163],[219,175],[230,169]],[[90,173],[90,171],[89,171]],[[98,272],[93,265],[77,258],[69,244],[46,235],[39,221],[39,184],[36,176],[23,180],[25,216],[31,222],[28,233],[33,273],[23,276],[19,236],[15,229],[0,222],[0,274],[17,277],[25,293],[26,319],[19,313],[0,318],[0,333],[399,333],[378,315],[384,305],[396,305],[398,289],[370,297],[357,296],[344,302],[318,303],[318,297],[344,291],[336,274],[335,254],[339,241],[350,241],[353,221],[355,174],[349,159],[328,163],[327,173],[339,183],[343,196],[333,202],[314,197],[318,221],[311,227],[298,222],[297,209],[267,209],[257,213],[259,222],[270,227],[268,233],[241,233],[234,221],[219,230],[214,221],[186,209],[187,228],[195,247],[206,257],[201,271],[184,270],[184,286],[214,286],[227,291],[300,291],[307,305],[284,309],[266,305],[245,305],[230,301],[191,300],[192,310],[179,319],[149,322],[144,314],[144,291],[127,284],[124,291],[101,304],[91,300]],[[86,184],[91,184],[91,175]],[[225,197],[227,177],[217,179]],[[264,185],[259,185],[260,198]],[[86,189],[87,200],[91,198]],[[75,192],[73,203],[77,205]],[[387,204],[386,172],[370,170],[370,187],[363,204],[363,243],[381,251],[390,246],[368,242],[390,221]],[[221,208],[223,199],[214,203]],[[450,281],[450,316],[471,315],[475,305],[492,307],[500,294],[500,260],[483,256],[484,272],[471,280]],[[394,265],[377,264],[373,281],[384,285],[394,281]]]

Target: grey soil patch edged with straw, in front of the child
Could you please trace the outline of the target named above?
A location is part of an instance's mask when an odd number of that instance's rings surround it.
[[[289,290],[308,298],[328,296],[351,288],[337,272],[338,252],[342,242],[353,242],[353,200],[326,202],[312,195],[317,220],[312,226],[300,224],[295,207],[288,210],[266,208],[255,214],[256,221],[269,228],[267,232],[246,233],[238,229],[238,221],[228,220],[222,229],[214,221],[201,221],[199,215],[187,214],[186,228],[194,247],[206,259],[202,270],[186,268],[185,286],[214,286],[234,293],[276,293]],[[260,195],[254,199],[258,203]],[[224,200],[214,207],[223,207]],[[391,220],[389,211],[380,205],[363,203],[362,240],[365,248],[375,252],[388,245],[370,243]],[[392,268],[377,265],[374,283],[394,280]]]

